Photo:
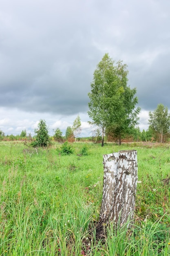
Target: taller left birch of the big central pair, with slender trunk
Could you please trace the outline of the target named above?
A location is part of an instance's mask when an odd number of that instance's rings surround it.
[[[104,132],[109,124],[110,110],[121,96],[121,88],[117,86],[118,77],[112,58],[105,54],[97,65],[91,83],[91,92],[88,93],[88,115],[92,124],[102,129],[102,146],[104,146]]]

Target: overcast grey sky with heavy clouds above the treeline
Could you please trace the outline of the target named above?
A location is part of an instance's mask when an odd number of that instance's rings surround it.
[[[0,129],[49,133],[80,116],[91,135],[88,92],[105,53],[128,65],[139,127],[159,103],[170,109],[170,0],[0,0]]]

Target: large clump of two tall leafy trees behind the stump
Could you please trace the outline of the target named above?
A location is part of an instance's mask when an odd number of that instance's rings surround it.
[[[104,132],[110,127],[121,144],[121,137],[130,128],[138,124],[137,115],[140,108],[135,109],[138,102],[136,89],[130,89],[127,65],[115,61],[105,54],[93,74],[91,92],[88,93],[88,115],[92,123],[102,128],[102,146]]]

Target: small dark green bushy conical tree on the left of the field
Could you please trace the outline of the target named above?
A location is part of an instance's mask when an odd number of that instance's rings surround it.
[[[38,128],[34,130],[35,140],[31,143],[34,147],[46,147],[50,144],[50,137],[48,133],[49,128],[46,121],[41,119],[38,123]]]

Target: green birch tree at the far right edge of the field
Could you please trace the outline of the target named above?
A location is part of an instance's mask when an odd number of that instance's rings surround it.
[[[168,108],[163,104],[158,104],[154,112],[149,112],[149,124],[153,131],[157,133],[159,142],[164,143],[170,135],[170,114]]]

